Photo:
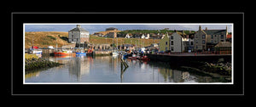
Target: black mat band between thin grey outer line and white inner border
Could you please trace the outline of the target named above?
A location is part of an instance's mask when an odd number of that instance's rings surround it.
[[[34,17],[31,17],[32,14],[36,14]],[[82,18],[71,18],[66,17],[63,19],[57,19],[54,18],[54,16],[57,15],[61,15],[61,16],[65,16],[65,14],[102,14],[102,15],[112,15],[112,16],[117,16],[120,15],[121,16],[125,16],[125,14],[136,14],[136,15],[140,15],[143,16],[143,14],[168,14],[170,16],[170,14],[172,14],[171,16],[185,16],[186,15],[198,15],[198,16],[216,16],[216,14],[218,14],[217,16],[227,16],[227,15],[231,15],[233,17],[223,17],[223,19],[220,18],[207,18],[206,19],[196,19],[196,18],[191,18],[191,19],[185,19],[185,18],[172,18],[172,20],[170,21],[170,19],[166,19],[163,18],[163,20],[160,20],[158,17],[156,18],[156,16],[154,16],[153,18],[149,18],[146,20],[143,19],[137,19],[137,20],[128,20],[124,19],[123,20],[117,20],[115,18],[108,18],[105,20],[100,20],[100,19],[90,19],[90,21],[84,21]],[[17,16],[18,15],[18,16]],[[47,17],[48,16],[53,16],[51,18]],[[168,17],[167,15],[167,17]],[[38,17],[40,18],[38,18]],[[44,16],[44,17],[42,17]],[[84,16],[84,15],[82,15]],[[234,17],[236,16],[236,17]],[[15,18],[16,17],[16,18]],[[17,18],[18,17],[18,18]],[[33,19],[32,19],[33,18]],[[154,19],[156,18],[156,19]],[[154,19],[154,20],[153,20]],[[234,62],[234,66],[237,66],[236,69],[234,68],[234,84],[233,85],[201,85],[201,84],[192,84],[192,85],[175,85],[175,84],[168,84],[168,85],[24,85],[23,81],[21,81],[22,84],[20,84],[20,75],[17,75],[17,67],[20,67],[19,64],[20,62],[22,62],[21,64],[23,64],[23,55],[21,56],[19,53],[20,51],[18,51],[18,49],[20,49],[20,39],[15,39],[15,37],[17,38],[20,35],[20,31],[22,32],[23,35],[23,29],[19,29],[20,28],[20,22],[22,23],[71,23],[70,20],[73,20],[72,23],[234,23],[234,34],[235,36],[239,36],[241,35],[242,37],[234,37],[236,39],[234,39],[234,42],[237,42],[237,44],[234,44],[234,54],[237,57],[234,57],[234,60],[236,60]],[[100,21],[99,21],[100,20]],[[196,22],[197,21],[197,22]],[[227,22],[228,21],[228,22]],[[23,25],[21,25],[23,27]],[[215,95],[244,95],[244,13],[167,13],[167,12],[163,12],[163,13],[148,13],[148,12],[141,12],[141,13],[74,13],[74,12],[68,12],[68,13],[58,13],[58,12],[52,12],[52,13],[47,13],[47,12],[13,12],[11,13],[11,95],[54,95],[54,96],[58,96],[58,95],[90,95],[90,96],[97,96],[97,95],[125,95],[125,96],[130,96],[130,95],[139,95],[139,96],[148,96],[148,95],[158,95],[158,96],[183,96],[183,95],[211,95],[211,96],[215,96]],[[242,42],[241,42],[242,41]],[[18,43],[19,42],[19,43]],[[21,41],[23,42],[23,41]],[[17,43],[17,44],[15,44]],[[22,43],[23,44],[23,43]],[[23,51],[23,48],[21,48]],[[236,51],[235,51],[236,50]],[[14,56],[14,53],[18,53]],[[20,56],[21,56],[21,60],[20,60]],[[15,61],[14,61],[15,59]],[[240,63],[236,63],[236,62],[240,62]],[[14,67],[15,65],[15,67]],[[23,67],[22,67],[23,68]],[[239,71],[238,73],[235,73],[235,71]],[[23,70],[22,70],[23,72]],[[23,75],[23,73],[22,73]],[[17,80],[18,79],[18,80]],[[22,76],[23,79],[23,76]],[[99,87],[100,86],[100,87]],[[53,88],[54,87],[54,88]],[[67,88],[68,87],[68,88]],[[83,89],[87,89],[88,87],[92,87],[92,89],[90,89],[90,91],[93,91],[94,89],[98,89],[98,88],[105,88],[107,89],[107,91],[102,92],[100,90],[94,90],[96,92],[94,93],[81,93]],[[152,88],[154,87],[154,89],[158,89],[158,91],[160,91],[159,88],[163,88],[164,91],[159,92],[159,93],[152,93],[153,91],[147,91],[145,93],[145,90],[143,89],[147,89],[147,88]],[[172,90],[171,87],[175,87],[174,91],[177,91],[176,93],[166,93],[168,92],[167,89]],[[82,90],[80,89],[78,92],[74,93],[72,91],[75,90],[65,90],[65,91],[61,91],[61,89],[63,88],[67,88],[67,89],[72,89],[72,88],[82,88]],[[189,88],[191,89],[189,92],[184,92],[184,88]],[[201,88],[201,89],[199,89]],[[37,89],[41,89],[41,90],[37,90]],[[51,89],[51,90],[50,90]],[[111,89],[116,90],[123,90],[121,92],[123,93],[109,93],[108,91],[111,92]],[[125,89],[125,91],[124,91]],[[133,89],[133,90],[129,90],[129,89]],[[137,89],[137,91],[134,91],[135,89]],[[178,91],[182,89],[181,91]],[[198,90],[199,89],[199,90]],[[202,90],[202,89],[206,89],[206,90]],[[223,89],[223,90],[220,90]],[[15,91],[14,91],[15,90]],[[44,91],[42,91],[44,90]],[[217,90],[217,91],[216,91]],[[39,93],[38,93],[38,92]],[[113,91],[113,90],[112,90]],[[130,91],[130,92],[129,92]],[[208,92],[207,92],[208,91]],[[71,93],[72,92],[72,93]],[[125,93],[124,93],[125,92]],[[128,92],[128,93],[127,93]],[[143,92],[143,93],[142,93]],[[192,93],[191,93],[192,92]],[[210,92],[210,93],[209,93]],[[62,93],[62,94],[60,94]],[[63,94],[66,93],[66,94]]]

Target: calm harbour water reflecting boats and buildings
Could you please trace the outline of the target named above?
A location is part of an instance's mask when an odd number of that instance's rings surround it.
[[[118,56],[43,56],[64,65],[25,72],[25,83],[229,83],[224,76],[177,70],[154,61]],[[122,70],[123,69],[123,70]]]

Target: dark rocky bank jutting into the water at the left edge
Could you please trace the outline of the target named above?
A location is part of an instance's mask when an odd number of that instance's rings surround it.
[[[35,70],[47,67],[54,67],[61,65],[60,63],[56,63],[53,61],[49,61],[48,59],[25,59],[25,70]]]

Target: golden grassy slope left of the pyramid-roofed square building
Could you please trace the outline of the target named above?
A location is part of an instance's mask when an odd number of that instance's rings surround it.
[[[69,44],[67,42],[68,32],[57,31],[38,31],[38,32],[25,32],[25,48],[32,47],[33,45],[39,48],[47,48],[48,46],[54,46],[56,43],[60,48],[62,45]]]

